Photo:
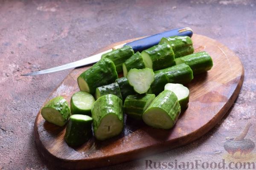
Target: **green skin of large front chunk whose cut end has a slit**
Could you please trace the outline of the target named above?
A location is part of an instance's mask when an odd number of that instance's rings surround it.
[[[122,100],[113,94],[107,94],[99,97],[94,102],[92,111],[93,118],[93,131],[96,133],[101,120],[108,114],[115,114],[118,119],[123,123],[123,107]],[[97,138],[97,136],[95,136]],[[113,136],[111,136],[113,137]]]

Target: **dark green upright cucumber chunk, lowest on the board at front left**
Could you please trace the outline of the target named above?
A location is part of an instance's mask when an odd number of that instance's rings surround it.
[[[76,147],[87,142],[93,135],[92,122],[93,119],[87,115],[74,114],[70,116],[64,137],[67,144]]]

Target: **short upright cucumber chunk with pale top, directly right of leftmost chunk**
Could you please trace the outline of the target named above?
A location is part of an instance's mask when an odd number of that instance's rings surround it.
[[[85,114],[90,116],[90,110],[94,102],[95,99],[93,95],[85,91],[78,91],[74,93],[70,100],[71,114]]]

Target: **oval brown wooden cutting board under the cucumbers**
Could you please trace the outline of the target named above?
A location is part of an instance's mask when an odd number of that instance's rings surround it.
[[[159,153],[203,136],[221,120],[237,98],[244,79],[244,69],[233,51],[216,40],[197,34],[193,35],[192,40],[195,52],[207,51],[214,66],[208,73],[196,76],[189,83],[189,108],[179,117],[172,130],[154,129],[143,122],[125,118],[126,125],[121,135],[104,142],[92,138],[81,147],[72,148],[64,141],[65,127],[46,122],[39,112],[34,129],[39,152],[50,163],[58,166],[87,169]],[[129,41],[132,40],[108,48]],[[74,69],[47,101],[59,95],[70,101],[72,94],[79,91],[77,77],[87,68]]]

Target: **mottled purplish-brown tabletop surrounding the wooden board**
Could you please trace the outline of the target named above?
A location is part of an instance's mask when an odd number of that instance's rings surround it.
[[[36,113],[69,71],[20,74],[75,61],[113,42],[189,26],[227,45],[244,64],[241,93],[219,125],[168,152],[103,169],[145,169],[152,161],[221,161],[223,144],[256,121],[256,4],[253,0],[0,1],[0,169],[55,169],[34,142]],[[51,62],[49,62],[51,61]],[[247,137],[253,142],[255,124]],[[254,150],[255,152],[255,150]]]

